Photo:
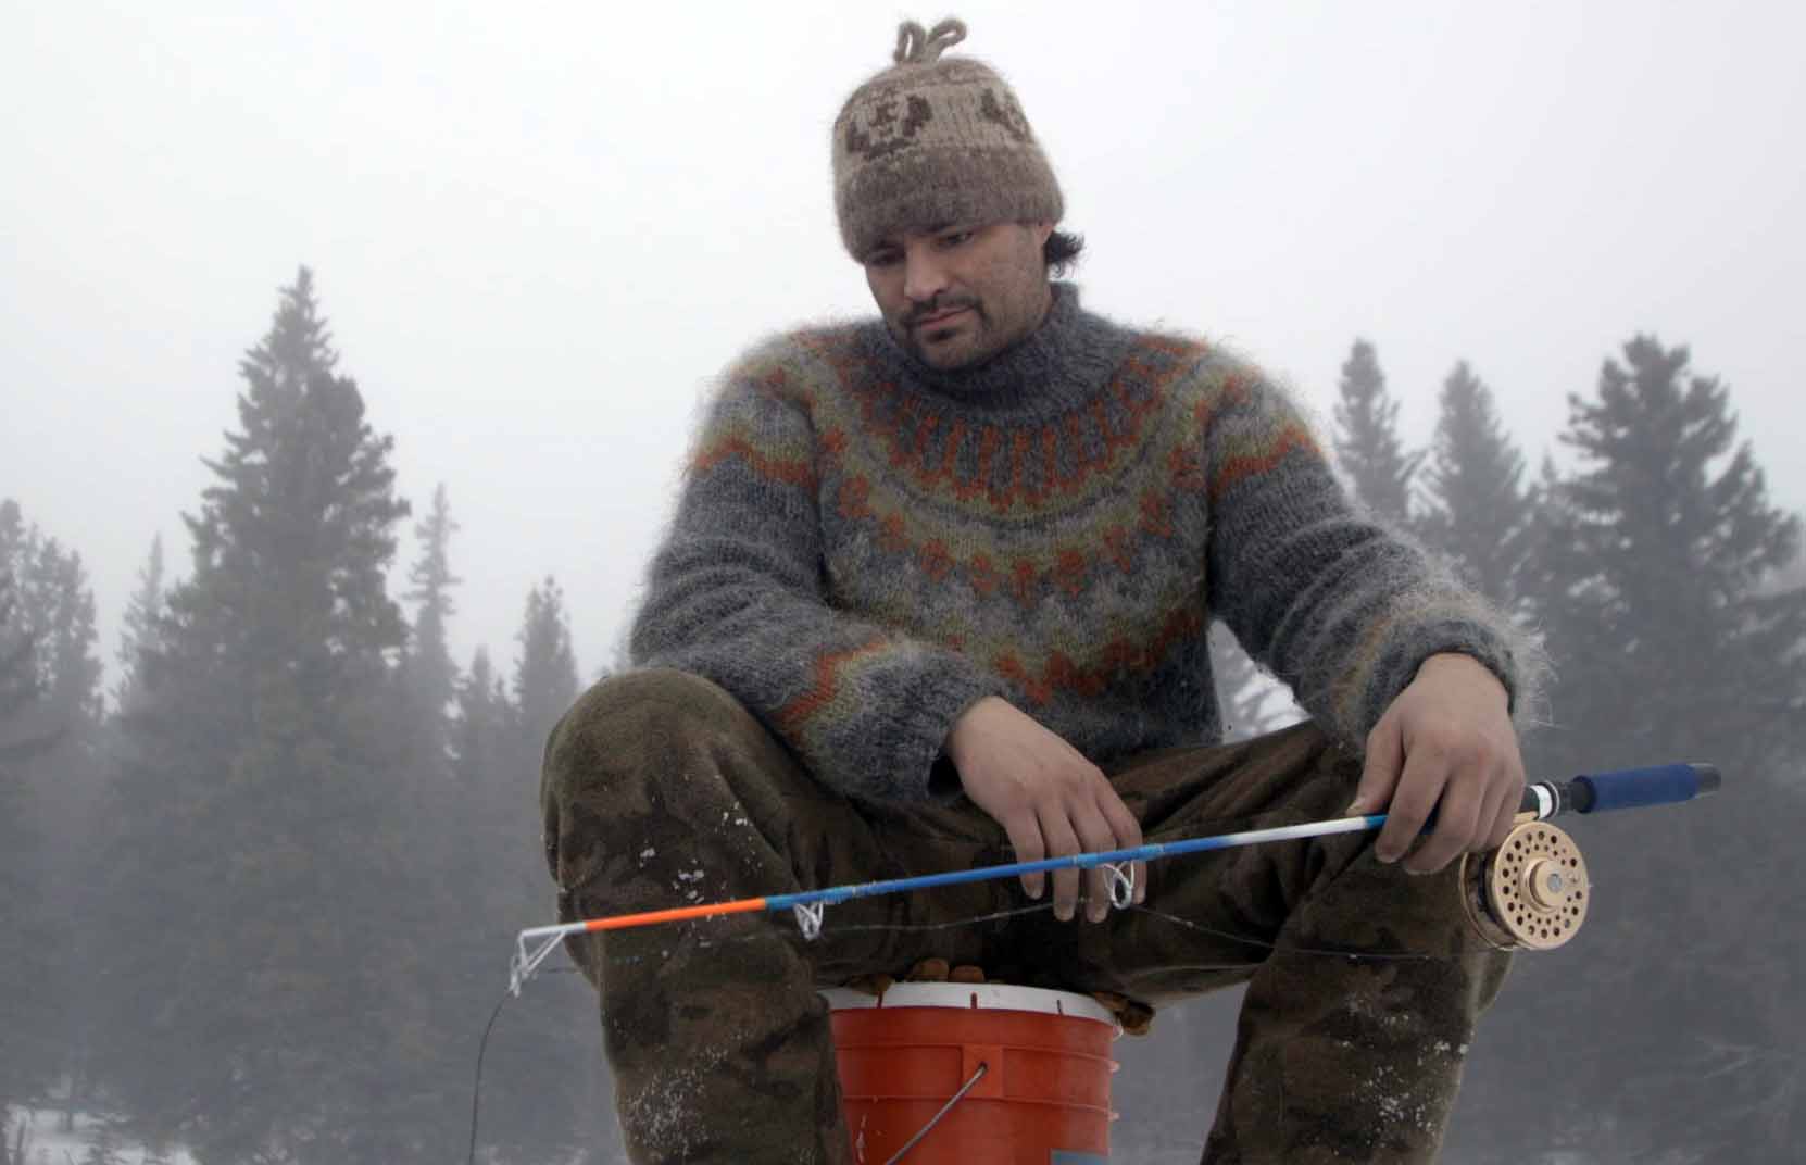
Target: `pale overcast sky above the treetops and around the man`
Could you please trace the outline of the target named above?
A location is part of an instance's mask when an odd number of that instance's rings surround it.
[[[307,264],[401,489],[462,524],[453,647],[556,574],[589,677],[701,394],[869,309],[827,132],[892,4],[4,4],[0,497],[85,556],[103,654],[188,571],[237,361]],[[1456,359],[1535,464],[1636,332],[1723,376],[1806,508],[1806,5],[975,4],[1087,238],[1085,303],[1226,340],[1405,437]],[[405,542],[403,565],[412,556]]]

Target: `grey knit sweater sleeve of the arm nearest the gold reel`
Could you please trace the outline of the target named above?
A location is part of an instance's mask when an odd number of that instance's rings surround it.
[[[1333,735],[1362,746],[1434,654],[1472,656],[1522,721],[1539,652],[1416,542],[1364,515],[1284,392],[1232,370],[1206,437],[1215,614]]]

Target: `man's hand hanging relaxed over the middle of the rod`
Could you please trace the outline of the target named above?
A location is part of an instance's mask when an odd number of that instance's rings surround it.
[[[1103,771],[1060,735],[1010,701],[988,695],[966,708],[946,735],[946,757],[972,802],[1010,834],[1019,862],[1067,858],[1078,853],[1132,849],[1141,824],[1129,813]],[[1069,921],[1078,907],[1078,874],[1085,874],[1089,918],[1109,918],[1109,871],[1053,872],[1053,912]],[[1022,874],[1022,889],[1040,898],[1044,874]],[[1147,899],[1147,863],[1134,863],[1134,901]]]

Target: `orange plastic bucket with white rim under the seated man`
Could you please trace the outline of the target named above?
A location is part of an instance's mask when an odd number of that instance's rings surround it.
[[[861,1165],[885,1165],[923,1129],[903,1165],[1109,1160],[1118,1028],[1089,995],[1001,983],[898,983],[876,999],[822,993]]]

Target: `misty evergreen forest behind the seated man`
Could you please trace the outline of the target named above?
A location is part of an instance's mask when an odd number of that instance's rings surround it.
[[[1353,495],[1541,638],[1531,777],[1725,773],[1710,800],[1569,825],[1589,921],[1517,957],[1448,1161],[1784,1161],[1806,1142],[1786,872],[1806,558],[1710,358],[1602,336],[1591,383],[1513,385],[1566,394],[1541,457],[1483,368],[1421,387],[1427,448],[1401,439],[1374,343],[1340,370],[1327,435]],[[83,1165],[462,1161],[479,1049],[479,1161],[625,1160],[594,992],[558,955],[504,995],[515,934],[553,910],[540,750],[596,674],[556,578],[522,580],[506,650],[453,657],[461,486],[405,497],[385,421],[302,269],[237,368],[235,428],[199,452],[190,556],[148,540],[108,645],[81,531],[40,529],[0,480],[0,1165],[47,1160],[27,1114],[79,1116]],[[1219,686],[1235,735],[1295,715],[1228,636]],[[1197,1160],[1233,1010],[1172,1008],[1116,1044],[1112,1160]]]

